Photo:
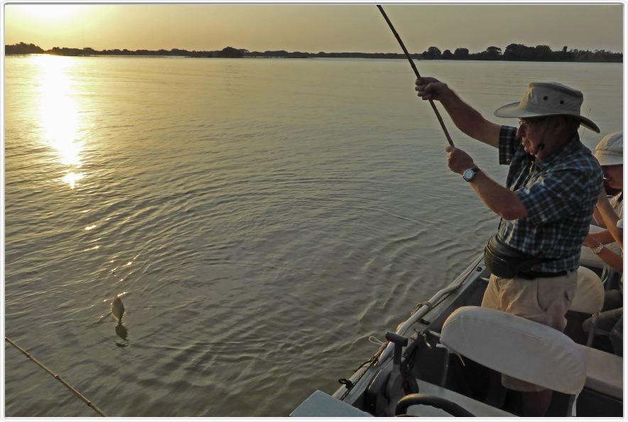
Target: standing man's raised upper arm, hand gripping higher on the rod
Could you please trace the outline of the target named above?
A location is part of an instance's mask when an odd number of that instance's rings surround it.
[[[473,139],[497,148],[502,126],[484,119],[480,112],[471,107],[450,89],[447,84],[433,77],[420,77],[415,82],[417,95],[422,99],[435,99],[443,104],[454,124]]]

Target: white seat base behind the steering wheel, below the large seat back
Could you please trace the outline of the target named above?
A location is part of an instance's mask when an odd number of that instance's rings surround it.
[[[458,404],[458,406],[461,406],[465,410],[470,411],[475,416],[484,418],[516,417],[516,415],[513,415],[512,413],[508,413],[507,411],[503,411],[502,409],[497,409],[496,407],[490,406],[489,404],[482,403],[482,401],[471,399],[470,397],[467,397],[463,394],[445,389],[442,386],[431,384],[429,382],[423,381],[422,379],[417,379],[416,383],[418,384],[418,391],[420,391],[421,393],[452,401],[453,403]],[[410,406],[408,408],[408,415],[421,416],[424,418],[452,417],[449,413],[441,409],[437,409],[433,406],[421,405]]]

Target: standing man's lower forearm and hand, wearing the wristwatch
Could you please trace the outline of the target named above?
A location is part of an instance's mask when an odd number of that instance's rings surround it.
[[[451,171],[462,174],[467,168],[475,166],[473,159],[465,151],[453,146],[448,146],[445,151],[448,153],[447,159]],[[483,171],[476,173],[470,185],[484,205],[504,220],[526,217],[526,207],[519,197],[513,191],[489,178]]]

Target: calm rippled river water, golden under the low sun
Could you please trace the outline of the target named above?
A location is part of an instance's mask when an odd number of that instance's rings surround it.
[[[287,416],[497,227],[446,168],[405,60],[5,65],[6,335],[109,416]],[[557,80],[603,132],[622,129],[621,64],[419,69],[489,117]],[[503,182],[497,152],[445,123]],[[119,293],[124,328],[108,314]],[[4,354],[6,416],[96,415]]]

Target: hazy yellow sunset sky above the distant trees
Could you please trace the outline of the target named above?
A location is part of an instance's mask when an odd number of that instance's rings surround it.
[[[623,53],[622,4],[384,4],[408,50],[510,43]],[[5,44],[399,52],[374,4],[4,4]]]

